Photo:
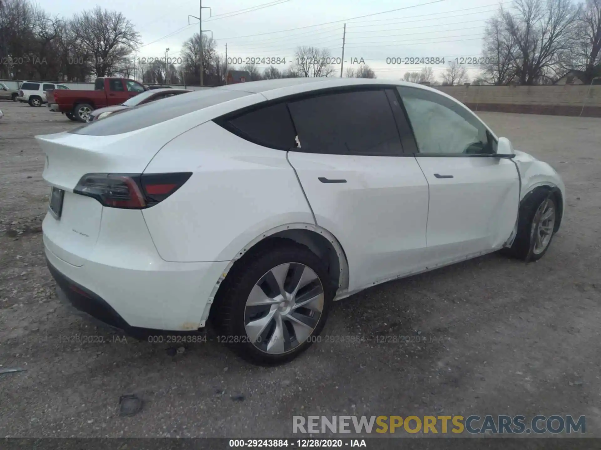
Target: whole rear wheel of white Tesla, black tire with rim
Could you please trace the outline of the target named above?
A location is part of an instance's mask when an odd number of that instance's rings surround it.
[[[282,284],[286,299],[279,289]],[[289,239],[271,239],[231,268],[216,295],[212,323],[218,340],[246,361],[282,364],[317,340],[334,294],[326,266],[316,254]],[[249,305],[251,299],[269,304]],[[307,303],[297,306],[295,300]],[[298,318],[310,325],[301,325]]]

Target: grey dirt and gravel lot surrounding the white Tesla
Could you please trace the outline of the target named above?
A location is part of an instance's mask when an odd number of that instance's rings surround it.
[[[421,343],[321,343],[261,368],[216,342],[172,355],[70,314],[44,262],[48,188],[33,136],[78,124],[0,109],[0,364],[26,369],[0,375],[0,437],[276,437],[293,415],[441,413],[586,415],[587,435],[601,437],[601,119],[481,114],[566,182],[566,217],[542,260],[492,254],[374,287],[337,302],[323,335]],[[68,342],[76,334],[105,342]],[[144,409],[124,418],[130,393]]]

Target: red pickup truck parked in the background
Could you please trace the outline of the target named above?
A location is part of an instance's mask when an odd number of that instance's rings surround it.
[[[102,77],[94,81],[94,91],[75,89],[48,89],[48,109],[61,112],[72,121],[85,122],[94,109],[121,104],[128,98],[147,91],[135,80]]]

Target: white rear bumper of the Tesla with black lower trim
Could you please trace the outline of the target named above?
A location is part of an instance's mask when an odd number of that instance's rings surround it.
[[[134,250],[105,244],[104,238],[101,232],[94,250],[75,266],[61,259],[71,260],[70,252],[44,231],[50,273],[75,308],[131,335],[142,329],[196,331],[205,326],[228,262],[170,263],[154,248]]]

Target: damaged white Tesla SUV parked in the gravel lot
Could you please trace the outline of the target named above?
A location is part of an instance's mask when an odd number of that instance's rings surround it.
[[[551,166],[413,83],[240,83],[37,139],[61,298],[131,334],[211,322],[259,364],[307,349],[366,287],[542,257],[565,203]]]

